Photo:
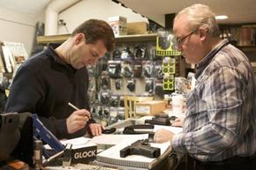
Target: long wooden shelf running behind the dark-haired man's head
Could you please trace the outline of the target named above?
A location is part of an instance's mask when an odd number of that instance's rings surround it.
[[[60,34],[60,35],[48,35],[48,36],[38,36],[37,42],[39,44],[49,44],[49,43],[62,43],[67,40],[70,34]],[[136,42],[136,41],[155,41],[157,34],[134,34],[134,35],[123,35],[116,37],[117,42]]]

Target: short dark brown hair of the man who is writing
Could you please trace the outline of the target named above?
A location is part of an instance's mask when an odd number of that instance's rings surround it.
[[[113,51],[115,48],[115,36],[112,28],[106,21],[89,19],[75,28],[72,32],[72,36],[77,33],[84,33],[87,43],[102,40],[108,51]]]

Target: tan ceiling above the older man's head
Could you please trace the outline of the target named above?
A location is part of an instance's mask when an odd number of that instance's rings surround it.
[[[118,0],[126,7],[157,22],[165,14],[177,13],[191,4],[207,4],[216,15],[227,15],[222,24],[256,23],[255,0]],[[163,21],[164,23],[164,21]],[[162,23],[159,23],[162,25]],[[164,25],[164,24],[163,24]],[[162,26],[163,26],[162,25]]]

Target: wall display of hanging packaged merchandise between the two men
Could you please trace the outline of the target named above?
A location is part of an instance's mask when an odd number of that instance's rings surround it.
[[[118,122],[124,120],[124,95],[152,96],[162,100],[164,94],[175,91],[180,56],[172,51],[169,36],[172,36],[169,32],[160,32],[154,40],[117,41],[113,53],[90,68],[90,77],[95,84],[89,88],[94,116],[104,119],[107,124]],[[157,43],[161,43],[161,53]]]

